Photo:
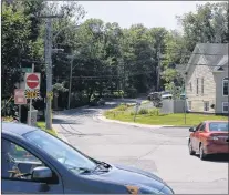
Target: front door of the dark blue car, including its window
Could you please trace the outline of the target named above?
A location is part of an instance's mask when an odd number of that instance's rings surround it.
[[[45,183],[33,181],[31,176],[17,177],[15,173],[32,172],[35,166],[46,166],[41,160],[29,153],[25,147],[7,138],[2,138],[1,151],[1,192],[2,194],[62,194],[61,176],[48,166],[53,176]],[[27,155],[27,157],[25,157]],[[20,170],[21,168],[21,170]],[[29,174],[28,173],[28,174]]]

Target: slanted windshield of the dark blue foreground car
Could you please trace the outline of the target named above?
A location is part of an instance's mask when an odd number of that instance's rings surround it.
[[[33,131],[24,134],[23,136],[32,145],[48,153],[69,170],[94,170],[96,167],[96,163],[86,157],[84,154],[43,131]]]

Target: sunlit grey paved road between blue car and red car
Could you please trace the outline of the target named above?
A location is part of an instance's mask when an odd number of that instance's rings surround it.
[[[176,194],[228,194],[228,160],[202,162],[189,156],[187,129],[107,123],[96,117],[102,110],[60,113],[54,127],[71,144],[95,158],[154,172]]]

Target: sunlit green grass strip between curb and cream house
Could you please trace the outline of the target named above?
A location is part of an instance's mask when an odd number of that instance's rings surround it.
[[[134,115],[129,112],[115,112],[108,111],[105,113],[105,116],[111,120],[118,120],[123,122],[134,122]],[[205,115],[205,114],[186,114],[186,124],[185,124],[185,114],[143,114],[136,115],[136,123],[140,124],[152,124],[152,125],[175,125],[175,126],[195,126],[202,121],[207,120],[228,120],[227,116],[220,115]]]

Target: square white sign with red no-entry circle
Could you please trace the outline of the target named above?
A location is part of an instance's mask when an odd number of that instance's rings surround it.
[[[25,74],[25,89],[39,90],[40,89],[40,73],[27,73]]]

